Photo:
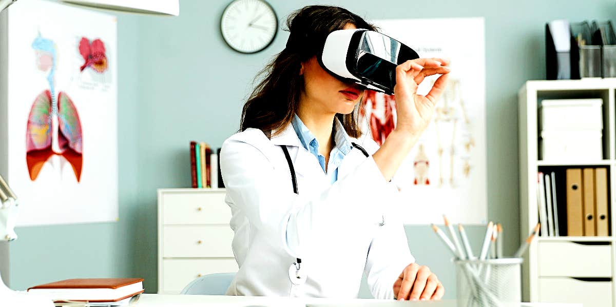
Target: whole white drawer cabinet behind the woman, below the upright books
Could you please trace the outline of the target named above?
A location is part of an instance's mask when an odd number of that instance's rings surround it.
[[[158,190],[158,293],[200,276],[237,272],[224,189]]]

